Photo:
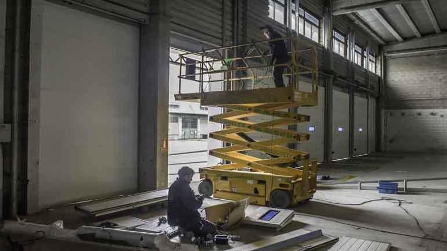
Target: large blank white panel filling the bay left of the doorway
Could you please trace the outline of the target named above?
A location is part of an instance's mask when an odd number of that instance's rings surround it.
[[[45,2],[39,207],[137,188],[139,28]]]

